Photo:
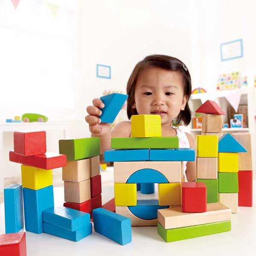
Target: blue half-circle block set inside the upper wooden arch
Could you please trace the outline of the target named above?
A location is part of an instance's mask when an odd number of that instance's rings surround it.
[[[126,183],[169,183],[166,177],[154,169],[140,169],[134,172]]]

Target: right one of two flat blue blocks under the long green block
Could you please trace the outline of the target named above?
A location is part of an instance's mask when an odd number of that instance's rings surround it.
[[[195,161],[195,149],[150,149],[150,161]]]

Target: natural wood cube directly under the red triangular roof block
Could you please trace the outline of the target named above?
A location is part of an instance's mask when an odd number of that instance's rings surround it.
[[[203,114],[202,132],[221,133],[222,115]]]

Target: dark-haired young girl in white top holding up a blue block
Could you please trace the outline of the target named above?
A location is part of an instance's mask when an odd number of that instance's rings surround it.
[[[194,148],[194,139],[181,128],[172,126],[174,119],[188,125],[191,113],[188,99],[191,95],[189,70],[182,61],[167,55],[150,55],[140,61],[127,83],[127,115],[154,114],[161,116],[162,136],[179,137],[180,148]],[[130,137],[131,122],[117,124],[111,131],[110,124],[101,123],[99,116],[104,108],[100,99],[93,99],[87,107],[92,137],[100,137],[101,154],[111,149],[111,137]],[[185,180],[195,181],[195,162],[184,162]]]

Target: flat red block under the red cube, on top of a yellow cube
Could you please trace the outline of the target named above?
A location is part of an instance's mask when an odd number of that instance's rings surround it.
[[[35,156],[23,156],[13,151],[9,152],[9,160],[15,163],[22,163],[28,166],[34,166],[41,169],[55,169],[66,166],[67,157],[63,154],[46,152]]]

